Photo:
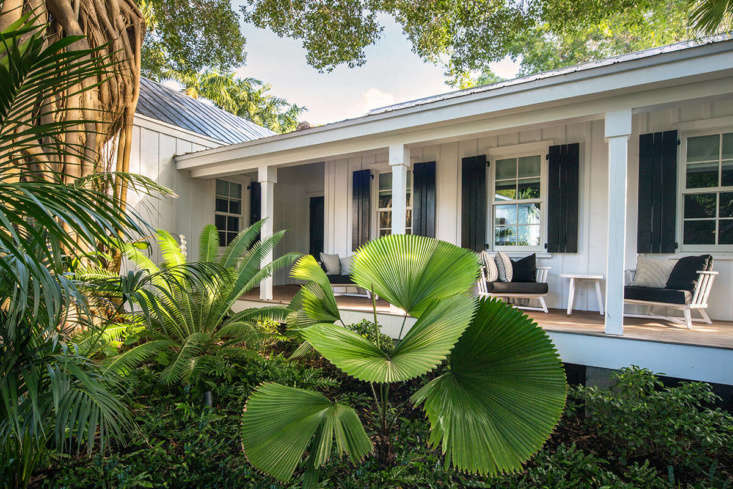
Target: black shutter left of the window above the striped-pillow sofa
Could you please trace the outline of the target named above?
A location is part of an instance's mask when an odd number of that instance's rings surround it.
[[[463,158],[461,165],[461,246],[486,247],[486,155]]]

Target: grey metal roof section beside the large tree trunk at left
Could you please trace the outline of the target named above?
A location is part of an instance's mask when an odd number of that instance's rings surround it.
[[[135,112],[225,144],[243,143],[275,134],[212,104],[142,77]]]

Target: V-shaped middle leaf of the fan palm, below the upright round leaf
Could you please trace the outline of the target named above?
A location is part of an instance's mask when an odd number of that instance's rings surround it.
[[[403,382],[437,367],[451,351],[473,314],[473,300],[457,295],[434,302],[391,354],[346,328],[317,324],[303,338],[328,361],[365,382]]]

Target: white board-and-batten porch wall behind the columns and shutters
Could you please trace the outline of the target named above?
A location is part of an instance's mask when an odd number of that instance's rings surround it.
[[[722,119],[721,119],[722,118]],[[726,119],[729,118],[729,119]],[[716,119],[718,122],[716,122]],[[680,136],[695,127],[715,127],[733,131],[733,98],[715,101],[690,101],[651,112],[635,114],[629,138],[628,205],[626,216],[626,268],[636,265],[637,194],[639,135],[679,129]],[[717,127],[716,127],[717,128]],[[518,144],[551,141],[551,144],[580,144],[579,216],[577,253],[538,253],[538,264],[552,267],[548,306],[565,308],[567,280],[561,273],[605,273],[608,220],[608,146],[603,120],[556,123],[544,127],[494,134],[411,150],[411,162],[436,162],[436,237],[451,243],[461,242],[461,159],[486,154],[493,164],[492,149]],[[544,156],[543,156],[544,158]],[[373,174],[388,171],[387,152],[375,151],[325,163],[325,250],[342,256],[351,254],[351,174],[371,169]],[[372,182],[372,187],[376,183]],[[679,198],[679,197],[678,197]],[[374,215],[374,214],[373,214]],[[489,219],[490,213],[489,213]],[[373,219],[374,220],[374,219]],[[376,236],[372,223],[372,236]],[[490,226],[488,226],[490,229]],[[686,253],[690,254],[690,253]],[[512,253],[512,255],[515,255]],[[521,256],[521,253],[517,254]],[[710,316],[733,320],[733,253],[713,253],[715,269],[720,272],[710,297]],[[667,256],[670,259],[682,256]],[[575,308],[598,310],[590,287],[576,290]]]

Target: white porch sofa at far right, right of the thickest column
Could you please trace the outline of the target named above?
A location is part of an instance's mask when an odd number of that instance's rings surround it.
[[[710,324],[705,309],[718,272],[713,271],[710,255],[686,256],[679,260],[639,255],[636,270],[627,270],[629,285],[624,287],[624,303],[647,306],[646,314],[625,313],[629,317],[682,321],[692,329],[692,311]],[[679,316],[655,315],[653,308],[682,311]]]

